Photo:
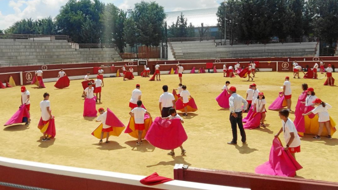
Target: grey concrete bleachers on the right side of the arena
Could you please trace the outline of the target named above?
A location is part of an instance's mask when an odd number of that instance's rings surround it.
[[[171,59],[224,59],[315,56],[317,42],[216,46],[213,40],[170,42]]]

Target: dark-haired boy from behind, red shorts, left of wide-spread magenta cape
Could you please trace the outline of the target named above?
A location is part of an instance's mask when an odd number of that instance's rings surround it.
[[[148,114],[149,117],[151,118],[150,113],[147,112],[145,109],[141,108],[141,106],[142,106],[142,101],[137,101],[137,107],[129,112],[129,115],[131,117],[134,117],[135,130],[138,130],[138,140],[136,141],[137,146],[140,146],[142,143],[142,133],[143,133],[143,130],[145,129],[144,115]]]

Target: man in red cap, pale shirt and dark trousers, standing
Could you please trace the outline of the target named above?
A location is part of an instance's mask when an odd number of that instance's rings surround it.
[[[242,122],[242,113],[246,110],[247,102],[236,93],[236,87],[231,86],[229,88],[229,93],[231,94],[229,98],[229,110],[230,110],[230,123],[232,129],[232,141],[228,144],[237,144],[237,124],[240,131],[240,136],[242,137],[241,141],[243,144],[246,144],[246,135],[243,128]],[[242,109],[243,103],[243,109]]]

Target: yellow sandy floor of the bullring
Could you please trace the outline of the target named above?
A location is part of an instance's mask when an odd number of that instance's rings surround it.
[[[95,118],[83,118],[83,98],[81,98],[81,80],[72,80],[69,88],[56,89],[55,82],[45,83],[47,88],[38,89],[28,85],[31,92],[31,119],[29,126],[13,125],[3,127],[0,132],[0,156],[24,159],[50,164],[59,164],[83,168],[109,170],[139,175],[158,172],[160,175],[173,177],[173,166],[176,163],[192,167],[222,169],[230,171],[255,172],[255,167],[268,161],[274,134],[281,128],[278,112],[268,111],[266,129],[246,130],[247,144],[227,145],[232,139],[229,122],[229,111],[221,109],[215,98],[221,92],[226,80],[237,87],[237,92],[245,98],[249,84],[244,78],[224,78],[222,73],[185,74],[183,83],[194,97],[198,111],[184,117],[184,127],[188,140],[183,144],[186,156],[180,155],[176,149],[176,157],[166,155],[168,151],[153,147],[147,142],[137,147],[134,138],[122,133],[120,137],[111,136],[109,144],[98,145],[99,140],[91,135],[99,123]],[[329,111],[337,122],[336,86],[323,86],[321,80],[294,79],[292,73],[259,72],[253,82],[265,93],[266,108],[275,100],[283,85],[284,77],[291,77],[294,110],[301,84],[306,82],[314,87],[317,97],[329,103],[333,108]],[[319,73],[319,78],[324,76]],[[338,74],[333,73],[334,78]],[[110,108],[125,124],[129,121],[129,100],[135,84],[139,83],[142,90],[142,101],[147,110],[155,118],[160,116],[158,98],[162,93],[162,85],[167,84],[169,91],[179,83],[178,75],[162,75],[162,81],[148,81],[149,78],[136,76],[134,80],[122,81],[119,78],[105,78],[102,92],[102,104],[97,109]],[[43,93],[50,93],[51,109],[55,116],[56,138],[50,142],[42,142],[42,134],[37,129],[40,119],[39,103]],[[18,110],[20,87],[0,89],[3,104],[0,109],[0,123],[3,125]],[[246,114],[244,114],[245,116]],[[292,114],[290,117],[294,119]],[[239,131],[238,137],[240,139]],[[281,135],[281,139],[283,135]],[[284,139],[282,139],[284,141]],[[312,140],[307,135],[302,138],[302,152],[297,153],[298,162],[304,167],[297,171],[297,177],[336,181],[338,160],[336,159],[338,134],[332,140]]]

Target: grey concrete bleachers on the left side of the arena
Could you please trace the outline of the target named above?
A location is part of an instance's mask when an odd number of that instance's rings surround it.
[[[74,48],[67,40],[0,39],[0,66],[115,62],[115,48]]]

